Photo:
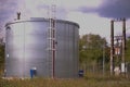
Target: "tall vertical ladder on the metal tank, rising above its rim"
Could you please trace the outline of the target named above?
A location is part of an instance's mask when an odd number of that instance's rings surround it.
[[[54,78],[55,76],[55,48],[56,48],[56,38],[55,38],[55,26],[56,26],[56,22],[55,22],[55,4],[52,4],[50,7],[50,17],[49,17],[49,29],[48,29],[48,34],[49,34],[49,73],[51,73],[51,77]]]

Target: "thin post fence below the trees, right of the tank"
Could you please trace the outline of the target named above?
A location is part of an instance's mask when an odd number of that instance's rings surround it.
[[[84,75],[92,75],[92,76],[108,76],[110,75],[109,64],[99,64],[99,63],[83,63],[80,65],[80,70],[83,70]],[[126,65],[126,76],[130,77],[130,63]],[[115,75],[115,72],[114,72]],[[119,74],[121,75],[121,73]]]

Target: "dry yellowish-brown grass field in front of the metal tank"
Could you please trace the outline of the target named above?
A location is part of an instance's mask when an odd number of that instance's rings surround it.
[[[130,80],[126,77],[109,77],[88,75],[83,78],[75,79],[2,79],[0,87],[130,87]]]

